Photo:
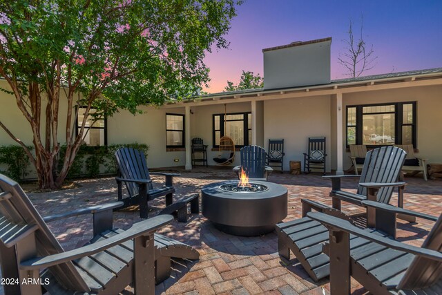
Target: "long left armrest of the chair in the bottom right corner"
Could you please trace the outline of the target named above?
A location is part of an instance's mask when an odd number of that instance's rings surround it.
[[[377,244],[396,249],[399,251],[405,251],[410,254],[414,254],[417,256],[422,256],[425,258],[429,258],[431,260],[441,261],[442,262],[442,253],[439,251],[434,251],[426,248],[416,247],[408,244],[404,244],[402,242],[398,242],[396,240],[390,238],[384,238],[382,236],[378,236],[368,231],[364,231],[358,227],[355,227],[347,220],[343,220],[340,218],[336,218],[334,216],[329,216],[324,213],[316,213],[310,212],[307,213],[307,216],[313,220],[321,222],[328,228],[332,228],[334,230],[339,229],[340,231],[345,231],[349,234],[354,234],[355,236],[359,236],[361,238],[365,238],[366,240],[376,242]]]

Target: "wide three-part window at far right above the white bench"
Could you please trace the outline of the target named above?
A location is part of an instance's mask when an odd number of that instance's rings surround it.
[[[347,106],[347,146],[413,144],[416,102]]]

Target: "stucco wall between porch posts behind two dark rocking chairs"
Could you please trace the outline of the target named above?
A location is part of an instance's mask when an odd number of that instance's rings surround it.
[[[274,99],[264,102],[264,134],[266,149],[271,138],[284,139],[284,170],[289,161],[304,162],[308,137],[325,136],[327,146],[327,171],[330,171],[332,149],[330,96]]]

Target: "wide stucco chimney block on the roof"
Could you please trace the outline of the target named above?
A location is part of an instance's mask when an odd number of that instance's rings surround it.
[[[264,88],[291,88],[330,83],[332,37],[295,41],[262,49]]]

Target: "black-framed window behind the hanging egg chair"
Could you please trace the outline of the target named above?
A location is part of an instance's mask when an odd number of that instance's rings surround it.
[[[213,146],[220,146],[223,136],[229,136],[235,146],[251,144],[251,113],[213,115]]]

